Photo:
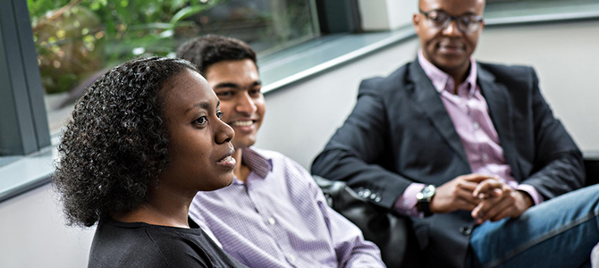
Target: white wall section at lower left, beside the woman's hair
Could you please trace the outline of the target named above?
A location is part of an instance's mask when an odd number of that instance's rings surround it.
[[[50,185],[0,203],[0,267],[87,267],[93,229],[68,228]]]

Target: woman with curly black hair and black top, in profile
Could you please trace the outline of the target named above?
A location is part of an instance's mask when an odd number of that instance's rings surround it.
[[[89,267],[245,267],[188,218],[198,191],[231,184],[234,136],[189,62],[123,63],[87,88],[58,146],[70,225],[97,224]]]

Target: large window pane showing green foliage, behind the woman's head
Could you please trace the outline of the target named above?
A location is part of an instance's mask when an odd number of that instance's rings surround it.
[[[258,54],[315,38],[310,0],[27,0],[50,130],[104,71],[213,33]]]

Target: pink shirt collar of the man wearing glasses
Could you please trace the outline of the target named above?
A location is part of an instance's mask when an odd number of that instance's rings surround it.
[[[433,83],[434,88],[439,92],[443,92],[446,89],[448,82],[454,83],[453,79],[449,74],[439,70],[433,63],[426,60],[425,55],[422,54],[422,49],[418,49],[418,63],[420,67],[425,71],[426,76]],[[469,94],[474,94],[477,85],[477,63],[474,61],[474,57],[470,57],[470,73],[468,77],[460,84],[459,87],[467,86]],[[458,87],[458,88],[459,88]]]

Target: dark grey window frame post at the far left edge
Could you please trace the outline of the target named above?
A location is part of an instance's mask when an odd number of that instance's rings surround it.
[[[30,155],[51,142],[27,1],[0,6],[0,157]]]

